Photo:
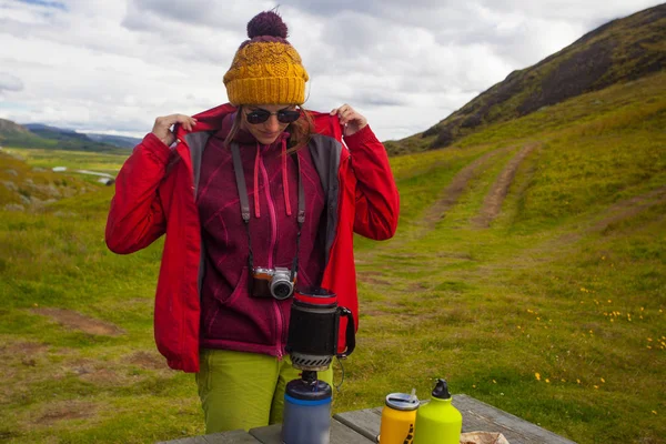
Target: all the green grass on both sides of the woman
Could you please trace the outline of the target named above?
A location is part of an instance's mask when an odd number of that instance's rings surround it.
[[[613,87],[447,150],[393,158],[398,233],[356,240],[361,330],[334,410],[377,406],[412,387],[427,397],[432,379],[446,377],[453,393],[582,444],[663,442],[664,84],[658,74]],[[478,228],[493,183],[527,143],[538,148],[516,171],[500,215]],[[442,190],[488,154],[444,216],[424,223]],[[122,161],[32,155],[28,164],[44,168]],[[17,184],[43,174],[12,169]],[[110,253],[111,196],[97,186],[0,213],[0,440],[142,443],[203,433],[193,376],[167,370],[154,350],[161,242]],[[68,327],[40,311],[48,307],[121,334]]]

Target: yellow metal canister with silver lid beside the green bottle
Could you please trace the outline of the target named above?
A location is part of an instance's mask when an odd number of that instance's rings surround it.
[[[377,436],[381,444],[412,444],[418,408],[418,398],[414,393],[391,393],[386,396]]]

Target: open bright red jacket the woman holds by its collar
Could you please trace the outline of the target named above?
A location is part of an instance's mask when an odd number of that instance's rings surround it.
[[[167,234],[154,334],[169,366],[185,372],[199,371],[201,225],[194,198],[201,152],[208,137],[233,111],[223,104],[195,115],[194,131],[176,128],[179,143],[173,151],[149,133],[118,174],[107,221],[107,245],[120,254],[143,249]],[[347,149],[341,143],[336,117],[315,112],[313,118],[317,135],[309,149],[319,159],[329,210],[333,210],[326,225],[327,261],[321,285],[352,310],[357,327],[353,233],[375,240],[393,236],[400,211],[397,189],[386,151],[369,127],[345,138]],[[341,350],[344,332],[341,324]]]

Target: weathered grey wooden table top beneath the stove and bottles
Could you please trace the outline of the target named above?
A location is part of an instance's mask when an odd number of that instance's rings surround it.
[[[467,395],[453,395],[463,414],[463,432],[500,432],[509,444],[576,444]],[[337,413],[331,420],[331,444],[372,444],[380,434],[383,407]],[[185,437],[159,444],[281,444],[280,424]]]

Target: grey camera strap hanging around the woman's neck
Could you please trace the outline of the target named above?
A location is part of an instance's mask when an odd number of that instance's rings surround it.
[[[241,161],[241,151],[239,144],[235,142],[231,143],[231,155],[233,158],[233,171],[235,174],[236,186],[239,189],[239,199],[241,203],[241,218],[248,232],[248,249],[250,254],[248,255],[249,271],[252,273],[254,270],[254,258],[252,253],[252,238],[250,236],[250,199],[248,198],[248,186],[245,184],[245,174],[243,172],[243,162]],[[305,222],[305,191],[303,190],[303,178],[301,174],[301,159],[297,153],[292,154],[296,160],[296,174],[299,175],[299,213],[296,215],[296,222],[299,223],[299,232],[296,233],[296,254],[291,269],[291,281],[294,281],[296,272],[299,271],[299,249],[301,244],[301,229]],[[254,190],[256,193],[258,190]]]

